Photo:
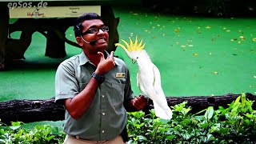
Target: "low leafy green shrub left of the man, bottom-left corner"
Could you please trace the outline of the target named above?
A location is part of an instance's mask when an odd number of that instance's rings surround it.
[[[58,127],[50,125],[35,126],[34,129],[22,128],[22,122],[12,122],[11,126],[3,126],[0,129],[0,143],[34,143],[34,144],[50,144],[62,143],[65,133],[58,130]]]

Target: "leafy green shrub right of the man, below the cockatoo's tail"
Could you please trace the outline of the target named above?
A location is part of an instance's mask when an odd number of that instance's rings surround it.
[[[242,94],[226,109],[212,106],[198,114],[182,102],[173,106],[173,118],[156,118],[154,110],[129,113],[129,143],[255,143],[256,114],[253,102]],[[202,114],[204,112],[204,114]]]

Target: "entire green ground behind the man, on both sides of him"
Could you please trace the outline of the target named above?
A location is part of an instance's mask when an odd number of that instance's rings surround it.
[[[120,39],[143,39],[145,50],[162,74],[166,96],[256,94],[256,18],[202,18],[114,7]],[[19,37],[19,32],[12,34]],[[72,28],[66,37],[74,40]],[[121,41],[120,41],[121,42]],[[122,43],[122,42],[121,42]],[[26,60],[0,72],[0,102],[54,97],[54,74],[64,59],[81,50],[66,44],[67,57],[47,58],[46,38],[34,33]],[[130,68],[132,89],[137,65],[120,47],[114,53]]]

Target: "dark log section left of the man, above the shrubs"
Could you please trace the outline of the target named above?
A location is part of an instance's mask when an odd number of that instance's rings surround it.
[[[65,110],[54,103],[54,98],[45,100],[12,100],[0,102],[1,122],[40,122],[64,120]]]

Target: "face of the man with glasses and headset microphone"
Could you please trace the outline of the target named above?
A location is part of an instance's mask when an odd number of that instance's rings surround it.
[[[106,50],[109,42],[108,27],[104,25],[102,20],[93,19],[82,22],[82,38],[79,45],[90,52],[98,52]],[[86,41],[86,42],[85,42]]]

